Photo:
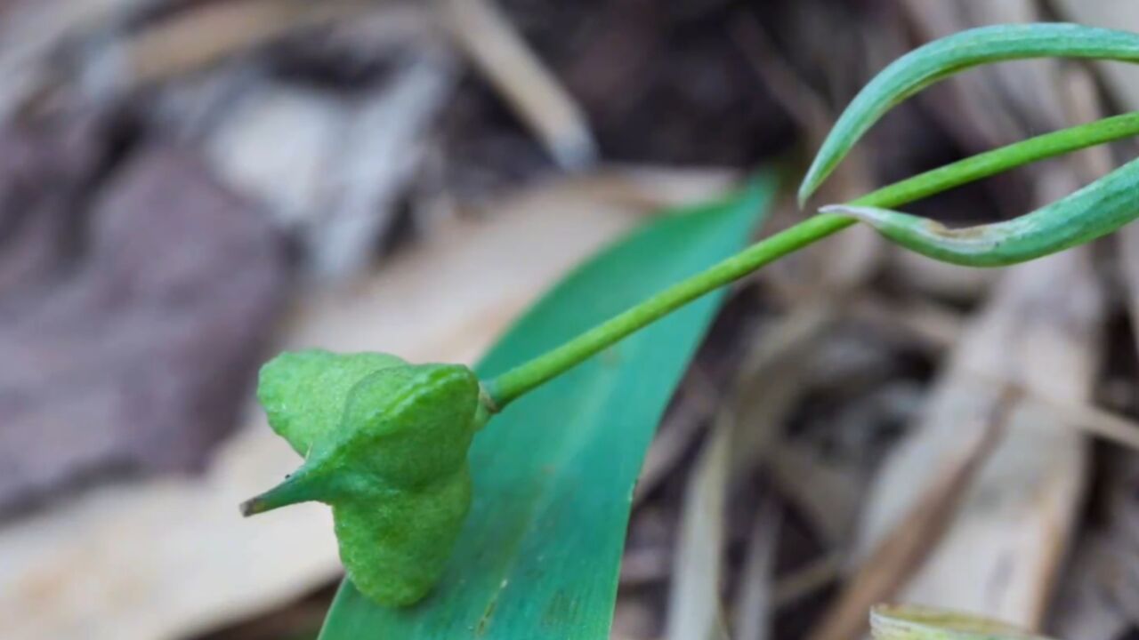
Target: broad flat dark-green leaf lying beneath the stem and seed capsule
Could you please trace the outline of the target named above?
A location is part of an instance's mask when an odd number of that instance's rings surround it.
[[[731,199],[658,218],[600,253],[499,340],[480,377],[738,251],[773,191],[773,180],[760,178]],[[392,609],[345,581],[320,638],[608,638],[633,484],[721,295],[659,320],[492,419],[472,449],[475,502],[435,591]]]

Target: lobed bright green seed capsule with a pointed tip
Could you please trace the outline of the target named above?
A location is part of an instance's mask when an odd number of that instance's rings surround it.
[[[485,421],[475,374],[379,353],[282,353],[262,368],[257,397],[305,461],[243,511],[326,502],[362,593],[390,606],[423,598],[470,508],[467,450]]]

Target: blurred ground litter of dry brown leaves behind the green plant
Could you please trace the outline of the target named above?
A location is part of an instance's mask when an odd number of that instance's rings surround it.
[[[797,175],[904,51],[1052,19],[1139,5],[0,0],[0,637],[314,638],[327,511],[237,512],[295,466],[260,362],[472,362],[654,211]],[[1130,109],[1123,65],[970,72],[816,204]],[[910,211],[1009,218],[1132,155]],[[1137,314],[1139,228],[1000,272],[853,229],[759,273],[649,452],[613,637],[853,640],[906,600],[1139,638]]]

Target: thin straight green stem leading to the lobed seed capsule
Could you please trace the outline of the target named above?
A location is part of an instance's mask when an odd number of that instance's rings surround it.
[[[1031,162],[1132,136],[1139,136],[1139,112],[1046,133],[980,154],[884,187],[850,204],[895,208]],[[542,383],[562,375],[680,306],[738,280],[779,257],[836,233],[854,222],[854,219],[843,215],[813,215],[669,287],[562,346],[506,371],[484,385],[486,395],[493,403],[493,410],[501,410]]]

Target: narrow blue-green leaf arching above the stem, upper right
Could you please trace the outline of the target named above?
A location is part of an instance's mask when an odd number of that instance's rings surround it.
[[[965,69],[1027,58],[1139,61],[1139,34],[1076,24],[995,25],[964,31],[919,47],[879,73],[835,123],[798,191],[805,202],[891,108]]]

